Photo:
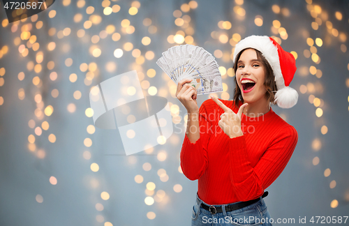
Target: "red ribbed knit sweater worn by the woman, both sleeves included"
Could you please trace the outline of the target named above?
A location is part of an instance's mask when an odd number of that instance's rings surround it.
[[[221,101],[233,112],[239,110],[234,100]],[[298,141],[297,130],[272,107],[258,117],[242,114],[244,135],[231,139],[218,126],[223,113],[214,100],[205,100],[200,106],[200,138],[193,144],[185,135],[181,148],[181,169],[188,179],[198,179],[198,196],[207,204],[260,197],[283,172]]]

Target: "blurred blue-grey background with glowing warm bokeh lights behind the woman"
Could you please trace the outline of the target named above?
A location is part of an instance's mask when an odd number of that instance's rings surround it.
[[[266,189],[272,217],[297,225],[299,216],[348,216],[348,9],[317,0],[62,0],[8,24],[1,2],[0,225],[190,225],[198,182],[179,167],[186,111],[156,60],[173,45],[204,47],[221,66],[215,95],[231,100],[232,52],[252,34],[297,59],[297,105],[272,106],[299,134]],[[168,99],[174,133],[125,156],[117,130],[94,127],[89,91],[130,70],[144,96]]]

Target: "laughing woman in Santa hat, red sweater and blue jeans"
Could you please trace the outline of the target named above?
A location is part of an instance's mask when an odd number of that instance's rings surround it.
[[[290,88],[295,58],[267,36],[249,36],[234,54],[234,100],[214,96],[200,106],[182,80],[177,98],[188,111],[181,169],[198,179],[192,225],[272,225],[263,197],[290,160],[298,135],[270,107],[297,103]],[[276,92],[275,95],[273,92]]]

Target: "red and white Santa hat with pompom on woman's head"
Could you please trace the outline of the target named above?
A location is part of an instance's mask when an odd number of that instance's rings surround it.
[[[262,52],[262,55],[272,66],[276,87],[278,88],[275,94],[277,105],[282,108],[295,106],[298,100],[298,93],[295,89],[288,86],[297,70],[295,57],[290,52],[283,50],[273,38],[268,36],[248,36],[235,46],[234,59],[236,59],[239,52],[246,48],[253,48]]]

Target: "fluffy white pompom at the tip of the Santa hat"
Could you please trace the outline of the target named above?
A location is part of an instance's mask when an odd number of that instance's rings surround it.
[[[279,107],[290,108],[296,105],[298,93],[290,86],[285,86],[283,89],[276,91],[275,100]]]

